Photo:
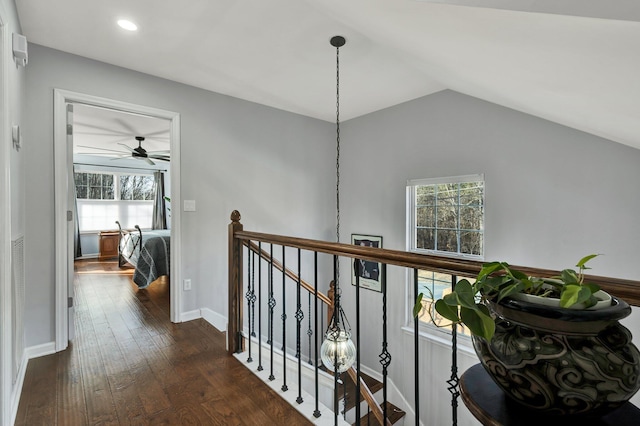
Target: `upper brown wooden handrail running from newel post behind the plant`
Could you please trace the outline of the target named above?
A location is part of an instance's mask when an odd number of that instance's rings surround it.
[[[311,240],[306,238],[287,237],[283,235],[264,234],[260,232],[237,231],[235,238],[242,240],[262,241],[283,246],[295,247],[321,253],[335,254],[355,259],[381,262],[388,265],[442,272],[462,277],[476,277],[484,262],[469,259],[452,259],[444,256],[411,253],[401,250],[390,250],[376,247],[356,246],[345,243]],[[536,277],[554,277],[560,271],[551,269],[530,268],[513,265],[527,275]],[[619,297],[633,306],[640,306],[640,281],[620,278],[585,275],[585,280],[598,284],[609,294]]]

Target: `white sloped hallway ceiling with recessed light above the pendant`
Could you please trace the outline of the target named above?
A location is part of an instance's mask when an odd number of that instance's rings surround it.
[[[340,34],[342,120],[448,88],[640,148],[637,0],[16,4],[30,42],[327,121]]]

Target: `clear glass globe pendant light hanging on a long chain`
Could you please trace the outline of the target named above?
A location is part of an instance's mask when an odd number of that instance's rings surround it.
[[[330,43],[336,48],[336,240],[340,242],[340,47],[344,46],[346,40],[342,36],[335,36]],[[351,340],[351,326],[340,306],[340,268],[337,258],[335,262],[333,316],[320,348],[320,356],[329,371],[343,373],[355,362],[356,347]]]

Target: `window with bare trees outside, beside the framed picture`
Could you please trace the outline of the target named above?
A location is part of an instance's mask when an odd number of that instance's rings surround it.
[[[414,252],[482,260],[484,176],[407,182],[407,247]],[[460,279],[462,277],[458,277]],[[431,323],[433,316],[437,325],[447,325],[446,320],[437,315],[433,300],[450,292],[451,282],[451,275],[418,271],[418,292],[424,294],[425,308],[420,314],[421,321]],[[465,329],[460,331],[468,334]]]

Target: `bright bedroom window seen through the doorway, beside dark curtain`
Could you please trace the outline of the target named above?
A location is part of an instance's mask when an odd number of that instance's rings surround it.
[[[76,172],[80,231],[151,228],[155,186],[153,176],[124,173]]]

